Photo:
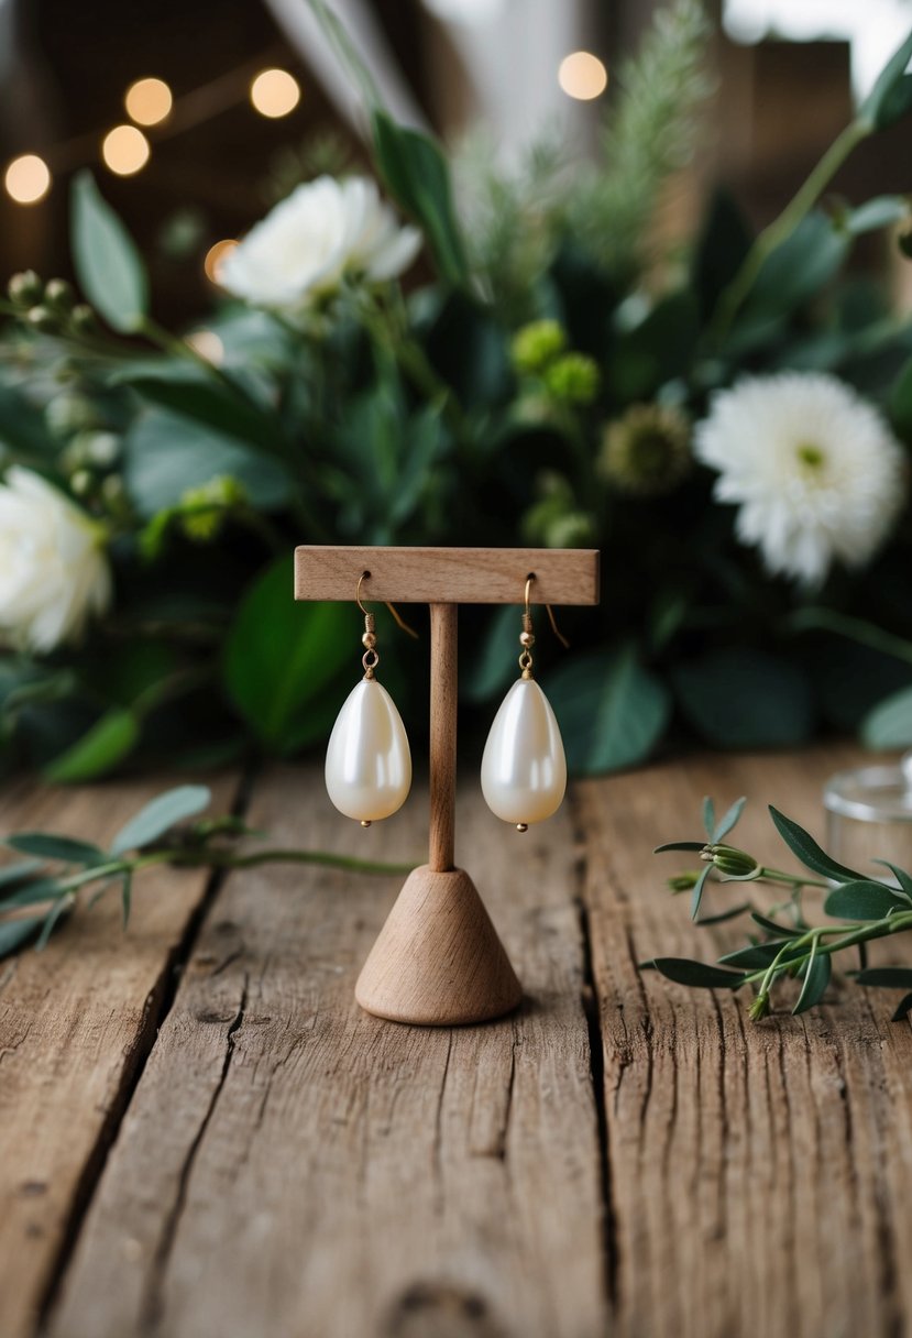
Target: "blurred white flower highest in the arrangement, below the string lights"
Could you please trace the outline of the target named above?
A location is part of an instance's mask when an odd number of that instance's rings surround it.
[[[333,293],[348,274],[394,278],[420,245],[420,233],[400,227],[369,177],[318,177],[250,229],[219,266],[218,281],[261,306],[302,306]]]

